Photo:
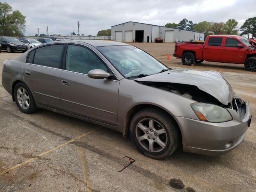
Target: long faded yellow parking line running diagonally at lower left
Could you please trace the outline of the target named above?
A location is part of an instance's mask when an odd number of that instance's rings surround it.
[[[59,146],[56,146],[55,148],[52,148],[52,149],[50,149],[50,150],[47,150],[47,151],[45,151],[45,152],[42,152],[42,153],[36,155],[36,157],[34,157],[34,158],[30,158],[30,159],[28,159],[28,160],[26,160],[26,161],[24,161],[24,162],[22,162],[22,163],[20,163],[20,164],[17,164],[17,165],[15,165],[15,166],[11,167],[11,168],[8,168],[7,170],[5,170],[5,171],[3,171],[3,172],[0,172],[0,175],[6,174],[7,172],[9,172],[9,171],[11,171],[11,170],[14,170],[14,169],[16,169],[16,168],[18,168],[18,167],[20,167],[20,166],[22,166],[22,165],[24,165],[24,164],[27,164],[27,163],[29,163],[30,161],[32,161],[32,160],[34,160],[34,159],[36,159],[36,158],[38,158],[38,157],[42,157],[42,156],[44,156],[44,155],[46,155],[46,154],[48,154],[48,153],[50,153],[50,152],[52,152],[52,151],[54,151],[54,150],[56,150],[56,149],[58,149],[58,148],[61,148],[61,147],[65,146],[65,145],[67,145],[67,144],[69,144],[69,143],[71,143],[71,142],[74,142],[74,141],[76,141],[76,140],[78,140],[78,139],[80,139],[80,138],[82,138],[82,137],[84,137],[84,136],[90,134],[91,132],[93,132],[93,131],[95,131],[95,130],[96,130],[96,129],[91,130],[91,131],[89,131],[89,132],[87,132],[87,133],[85,133],[85,134],[82,134],[82,135],[80,135],[80,136],[78,136],[78,137],[76,137],[76,138],[74,138],[74,139],[68,140],[67,142],[62,143],[62,144],[60,144]]]

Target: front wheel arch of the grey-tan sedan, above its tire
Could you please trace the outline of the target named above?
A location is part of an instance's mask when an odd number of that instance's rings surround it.
[[[130,122],[132,120],[132,117],[139,111],[146,109],[146,108],[156,108],[159,110],[162,110],[163,112],[165,112],[166,114],[168,114],[168,116],[170,118],[172,118],[172,120],[174,120],[174,122],[177,124],[178,127],[178,132],[180,134],[180,138],[181,138],[181,142],[182,142],[182,131],[180,129],[180,126],[175,118],[175,116],[173,116],[170,112],[168,112],[168,110],[161,108],[160,106],[156,106],[153,104],[138,104],[136,106],[133,106],[132,108],[130,108],[130,110],[126,113],[126,116],[124,118],[124,124],[123,124],[123,136],[126,137],[129,134],[129,129],[130,129]]]

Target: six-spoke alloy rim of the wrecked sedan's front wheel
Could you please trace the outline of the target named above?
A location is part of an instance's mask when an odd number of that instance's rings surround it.
[[[150,152],[160,152],[167,145],[167,133],[156,120],[146,118],[136,126],[136,138],[140,145]]]

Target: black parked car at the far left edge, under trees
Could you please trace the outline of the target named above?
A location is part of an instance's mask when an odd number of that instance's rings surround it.
[[[8,53],[13,51],[26,52],[27,50],[24,43],[13,37],[0,36],[0,44],[2,45],[2,50],[7,50]]]

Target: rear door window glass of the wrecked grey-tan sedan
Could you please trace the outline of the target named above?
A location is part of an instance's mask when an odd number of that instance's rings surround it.
[[[60,68],[60,60],[64,45],[50,45],[36,49],[34,64]]]

